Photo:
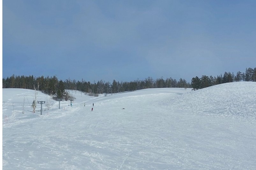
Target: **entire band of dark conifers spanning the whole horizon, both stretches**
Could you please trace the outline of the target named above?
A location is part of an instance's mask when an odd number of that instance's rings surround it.
[[[223,75],[217,75],[217,77],[203,75],[201,78],[193,77],[191,84],[185,79],[180,78],[178,81],[173,78],[163,79],[157,78],[154,80],[152,77],[145,78],[145,80],[134,80],[119,82],[113,80],[112,83],[99,80],[96,82],[81,81],[77,80],[58,80],[56,76],[51,77],[34,77],[31,76],[17,76],[12,75],[11,77],[3,78],[2,88],[23,88],[32,89],[38,87],[37,90],[56,96],[56,98],[63,98],[65,90],[77,90],[88,94],[109,94],[118,92],[135,91],[147,88],[166,88],[166,87],[178,87],[178,88],[194,88],[201,89],[212,85],[218,85],[228,82],[237,81],[256,81],[256,68],[246,68],[245,72],[238,71],[236,75],[232,72],[225,72]]]

